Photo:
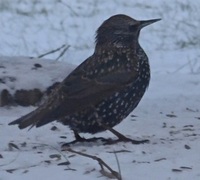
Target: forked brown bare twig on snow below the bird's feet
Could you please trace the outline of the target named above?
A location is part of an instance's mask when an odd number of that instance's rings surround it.
[[[84,156],[84,157],[88,157],[88,158],[93,159],[93,160],[96,160],[99,163],[100,167],[101,167],[101,171],[100,172],[104,176],[107,176],[109,178],[115,177],[118,180],[121,180],[120,174],[118,172],[114,171],[110,166],[108,166],[101,158],[99,158],[97,156],[89,155],[89,154],[86,154],[86,153],[83,153],[83,152],[80,152],[80,151],[75,151],[75,150],[72,150],[71,148],[68,148],[68,147],[65,147],[64,150],[72,152],[72,153],[75,153],[75,154],[78,154],[78,155],[81,155],[81,156]],[[107,168],[110,171],[110,173],[105,171],[104,167]]]

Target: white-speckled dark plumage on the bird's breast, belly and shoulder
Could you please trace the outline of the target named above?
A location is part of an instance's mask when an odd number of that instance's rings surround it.
[[[138,48],[138,51],[143,50]],[[113,54],[110,59],[107,55],[105,55],[105,57],[102,57],[102,55],[96,55],[97,57],[93,56],[95,59],[108,59],[109,63],[106,62],[105,68],[97,71],[95,71],[95,67],[90,67],[91,69],[94,69],[94,74],[87,69],[86,72],[88,72],[88,76],[92,73],[91,76],[95,77],[101,74],[101,71],[103,71],[103,73],[106,71],[110,73],[112,69],[116,71],[118,68],[119,70],[124,69],[122,70],[124,74],[118,72],[119,74],[117,74],[116,77],[114,76],[110,77],[111,79],[105,79],[106,82],[117,83],[117,81],[119,81],[120,83],[120,78],[122,78],[122,81],[127,78],[127,81],[118,91],[113,91],[108,97],[102,98],[98,104],[92,105],[92,107],[88,108],[86,112],[84,109],[83,111],[77,112],[71,116],[66,116],[64,120],[62,120],[64,124],[70,124],[71,128],[78,132],[96,133],[105,130],[98,124],[96,115],[98,115],[99,120],[102,121],[103,124],[110,127],[120,123],[138,105],[149,84],[150,69],[148,58],[144,52],[143,56],[140,56],[140,61],[134,61],[135,55],[131,51],[128,52],[128,49],[124,52],[115,51],[110,53]],[[119,59],[119,62],[116,62],[116,59]],[[130,62],[128,59],[130,59]],[[96,65],[94,64],[94,66]],[[128,79],[129,73],[130,76],[133,76],[130,79]],[[135,76],[135,74],[137,74],[137,76]]]

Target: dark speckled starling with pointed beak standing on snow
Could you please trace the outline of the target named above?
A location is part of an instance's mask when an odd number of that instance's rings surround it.
[[[113,127],[139,104],[150,82],[149,60],[139,44],[140,30],[161,19],[135,20],[125,14],[106,19],[96,31],[94,53],[76,67],[34,111],[9,125],[41,127],[53,121],[80,133],[110,131],[117,140],[133,140]],[[92,139],[92,138],[91,138]]]

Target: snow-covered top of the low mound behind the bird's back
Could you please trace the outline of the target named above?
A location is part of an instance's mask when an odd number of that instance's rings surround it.
[[[0,67],[3,81],[0,91],[7,89],[14,93],[16,90],[34,88],[45,91],[55,82],[62,81],[76,66],[49,59],[0,57]]]

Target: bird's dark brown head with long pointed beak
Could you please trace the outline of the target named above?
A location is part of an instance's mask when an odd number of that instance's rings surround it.
[[[105,20],[96,32],[96,46],[127,47],[138,42],[140,30],[160,19],[138,21],[126,15]]]

